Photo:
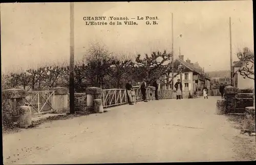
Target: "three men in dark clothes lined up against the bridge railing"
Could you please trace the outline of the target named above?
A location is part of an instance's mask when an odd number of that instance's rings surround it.
[[[141,94],[142,94],[142,100],[144,102],[147,102],[147,100],[146,100],[146,87],[147,87],[147,82],[146,82],[146,79],[143,78],[143,80],[140,84],[140,91],[141,91]],[[158,84],[157,84],[157,79],[156,78],[154,78],[153,87],[156,88],[155,97],[156,97],[156,100],[158,100]],[[126,94],[128,96],[128,102],[129,102],[130,105],[133,105],[133,102],[136,101],[135,100],[136,98],[135,98],[135,91],[133,89],[131,80],[129,80],[127,82],[127,84],[125,85],[125,89],[126,89]]]

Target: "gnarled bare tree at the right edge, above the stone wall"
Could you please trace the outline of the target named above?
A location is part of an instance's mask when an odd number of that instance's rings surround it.
[[[248,47],[244,47],[243,51],[237,53],[238,59],[243,64],[239,69],[239,73],[244,78],[254,79],[254,52]]]

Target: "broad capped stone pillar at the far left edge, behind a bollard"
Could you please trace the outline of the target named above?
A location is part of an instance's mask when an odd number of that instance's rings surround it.
[[[20,115],[20,106],[25,105],[26,91],[8,89],[2,92],[2,113],[12,122],[17,122]]]

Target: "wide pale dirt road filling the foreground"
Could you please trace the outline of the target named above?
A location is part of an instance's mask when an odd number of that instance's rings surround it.
[[[233,161],[238,129],[216,100],[155,100],[3,136],[5,164]]]

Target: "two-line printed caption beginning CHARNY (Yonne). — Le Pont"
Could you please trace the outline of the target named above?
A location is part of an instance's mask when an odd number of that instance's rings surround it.
[[[97,17],[84,16],[85,25],[157,25],[159,18],[157,16],[136,16],[136,17]]]

